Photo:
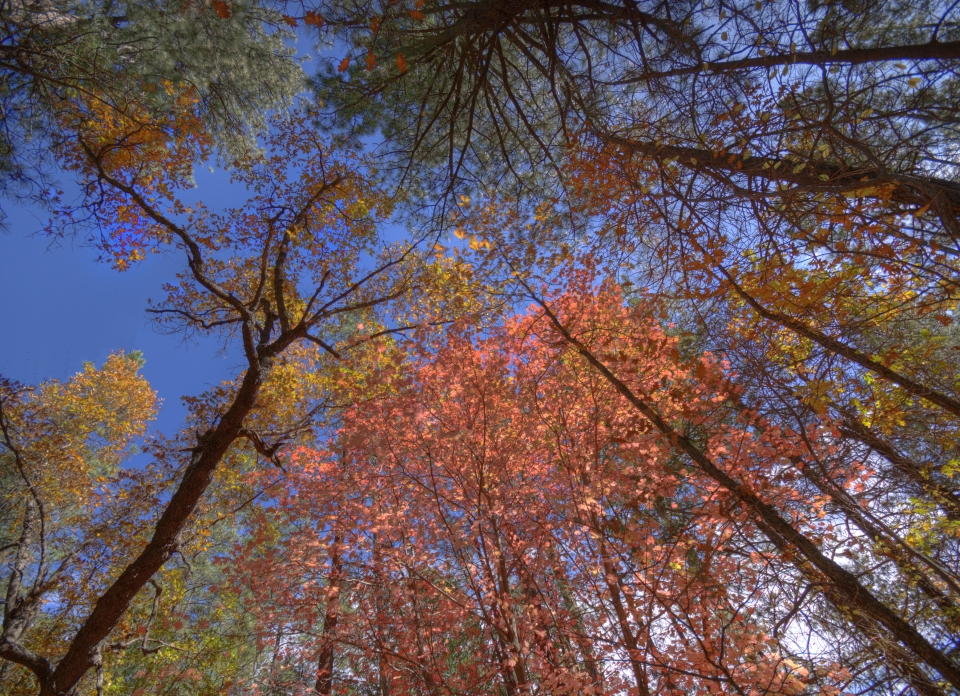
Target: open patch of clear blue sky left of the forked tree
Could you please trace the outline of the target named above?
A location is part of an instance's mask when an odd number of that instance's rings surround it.
[[[197,196],[236,196],[222,172],[198,167]],[[159,299],[162,283],[184,267],[182,254],[150,255],[122,273],[97,261],[81,238],[51,244],[42,233],[46,214],[4,200],[7,230],[0,232],[0,375],[27,384],[66,379],[85,361],[97,364],[113,351],[142,350],[143,374],[164,400],[156,427],[172,434],[186,411],[183,395],[241,369],[238,352],[223,354],[218,342],[184,342],[154,330],[147,299]]]

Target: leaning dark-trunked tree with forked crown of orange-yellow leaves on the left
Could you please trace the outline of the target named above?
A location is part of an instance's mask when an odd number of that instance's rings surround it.
[[[181,250],[186,269],[152,311],[174,327],[236,337],[246,365],[235,380],[189,401],[187,429],[156,453],[173,471],[163,497],[137,519],[142,527],[124,549],[88,571],[85,601],[72,607],[54,644],[36,643],[8,607],[0,654],[29,669],[42,694],[70,692],[102,661],[105,641],[141,590],[187,541],[221,461],[245,451],[276,462],[284,447],[306,436],[327,401],[322,356],[336,360],[375,340],[377,334],[358,332],[357,320],[376,322],[380,307],[416,283],[415,248],[377,241],[375,220],[389,200],[349,152],[330,149],[303,117],[274,124],[269,154],[234,162],[234,180],[250,198],[215,212],[179,198],[210,142],[193,100],[162,121],[136,126],[109,118],[96,102],[89,109],[72,124],[77,137],[64,156],[91,183],[61,221],[116,221],[101,227],[101,245],[121,268],[147,250]],[[122,507],[117,498],[112,504]],[[81,568],[87,561],[74,560]],[[35,584],[22,601],[36,606],[48,591]]]

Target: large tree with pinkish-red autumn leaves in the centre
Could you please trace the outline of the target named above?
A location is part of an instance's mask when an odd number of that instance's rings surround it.
[[[627,308],[584,276],[567,290],[563,316],[675,430],[648,422],[540,307],[423,336],[412,351],[383,346],[335,437],[291,454],[280,514],[261,514],[231,560],[274,650],[263,688],[297,692],[318,673],[319,693],[331,682],[397,694],[849,682],[836,665],[791,659],[782,626],[755,611],[763,575],[786,561],[764,547],[772,532],[753,506],[789,509],[794,529],[843,543],[817,514],[823,501],[793,485],[832,458],[828,429],[758,428],[729,408],[723,365],[679,357],[655,303]],[[736,486],[676,456],[694,440]]]

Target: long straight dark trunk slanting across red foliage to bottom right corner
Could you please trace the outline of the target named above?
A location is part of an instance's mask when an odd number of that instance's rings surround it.
[[[640,398],[620,380],[589,348],[578,341],[560,322],[538,295],[526,288],[531,299],[544,310],[551,324],[564,341],[592,365],[627,401],[639,411],[658,431],[666,436],[673,446],[690,457],[707,476],[727,490],[747,510],[757,528],[774,541],[795,549],[800,557],[797,565],[809,565],[828,581],[831,591],[828,596],[843,613],[855,612],[865,619],[875,621],[911,653],[935,669],[955,688],[960,688],[960,666],[934,647],[916,628],[903,620],[896,612],[878,600],[873,593],[860,584],[857,577],[832,559],[802,532],[788,522],[772,505],[764,502],[749,488],[732,479],[707,457],[689,438],[676,432],[646,401]],[[777,543],[777,542],[774,542]],[[809,572],[809,570],[807,571]]]

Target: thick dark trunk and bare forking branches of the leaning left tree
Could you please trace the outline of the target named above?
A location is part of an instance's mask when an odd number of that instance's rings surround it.
[[[275,462],[275,455],[281,446],[282,438],[272,447],[267,447],[256,433],[244,427],[244,421],[254,409],[260,388],[267,378],[277,356],[281,355],[293,343],[298,341],[313,341],[325,350],[338,356],[322,339],[312,335],[311,330],[330,317],[375,307],[388,302],[407,292],[404,285],[392,294],[379,295],[364,299],[360,297],[360,289],[368,287],[374,279],[387,273],[394,266],[403,262],[411,253],[406,252],[392,257],[381,266],[367,272],[355,281],[344,284],[343,287],[332,291],[329,296],[321,298],[321,292],[326,286],[326,276],[319,282],[312,298],[306,303],[306,309],[298,319],[288,316],[286,304],[281,300],[278,308],[282,315],[278,315],[264,300],[266,278],[272,275],[275,280],[274,288],[284,291],[284,271],[286,260],[286,238],[275,244],[275,237],[268,235],[263,242],[264,248],[260,256],[263,282],[255,289],[254,298],[245,302],[236,294],[220,285],[215,275],[211,275],[203,257],[203,247],[191,235],[190,231],[177,225],[159,208],[155,207],[149,197],[139,191],[133,184],[125,183],[112,176],[103,168],[102,157],[110,150],[104,146],[94,150],[85,142],[80,142],[81,150],[89,158],[89,163],[97,171],[102,185],[112,187],[126,194],[142,212],[151,218],[157,225],[164,228],[171,237],[177,239],[186,251],[187,264],[193,280],[199,290],[214,303],[218,303],[225,313],[229,313],[229,321],[221,323],[237,324],[241,328],[244,355],[247,359],[247,370],[240,380],[240,385],[226,410],[214,424],[202,435],[197,437],[196,446],[190,450],[190,460],[183,476],[177,485],[169,503],[163,510],[159,521],[153,529],[153,536],[143,551],[133,560],[110,587],[100,596],[90,615],[83,622],[75,634],[66,655],[51,666],[45,658],[33,655],[16,641],[7,638],[0,643],[0,656],[27,666],[36,675],[40,682],[41,696],[65,696],[70,693],[84,674],[93,666],[99,657],[103,642],[130,607],[137,593],[151,581],[151,578],[163,564],[174,554],[180,543],[180,537],[187,528],[189,520],[195,512],[204,492],[209,487],[217,465],[223,459],[231,445],[239,438],[250,440],[254,448],[264,457]],[[343,181],[342,176],[335,175],[330,181],[318,186],[316,191],[304,207],[298,209],[294,215],[297,223],[303,221],[307,211],[317,204],[318,199],[327,191],[336,188]],[[272,253],[275,256],[272,257]],[[319,307],[315,307],[319,304]],[[263,316],[257,314],[263,311]],[[178,310],[170,310],[178,311]],[[206,327],[204,319],[187,312],[179,312],[194,326]],[[280,330],[276,331],[279,322]],[[385,335],[390,331],[381,332]],[[296,432],[296,428],[291,431]],[[39,501],[38,501],[39,503]]]

